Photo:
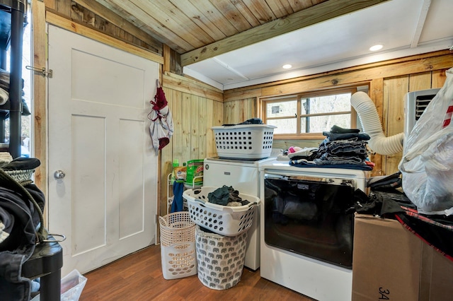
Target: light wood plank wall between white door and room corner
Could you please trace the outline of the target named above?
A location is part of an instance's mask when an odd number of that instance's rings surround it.
[[[173,168],[173,160],[177,159],[183,165],[188,160],[204,159],[217,153],[211,127],[223,123],[224,107],[221,90],[190,78],[164,73],[162,86],[174,125],[173,137],[160,155],[159,200],[161,216],[164,216],[167,177]],[[170,190],[170,196],[172,195]]]

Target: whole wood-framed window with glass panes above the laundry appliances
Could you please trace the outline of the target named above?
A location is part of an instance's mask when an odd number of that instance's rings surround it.
[[[357,125],[350,105],[356,88],[301,93],[263,99],[265,124],[277,126],[274,138],[321,138],[336,124],[346,129]]]

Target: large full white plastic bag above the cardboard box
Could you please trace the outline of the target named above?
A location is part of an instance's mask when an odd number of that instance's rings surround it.
[[[403,190],[420,213],[453,213],[452,106],[453,68],[447,71],[445,85],[406,137],[398,165]]]

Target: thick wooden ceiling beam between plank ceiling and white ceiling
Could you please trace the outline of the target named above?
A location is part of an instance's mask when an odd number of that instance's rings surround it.
[[[329,0],[297,13],[251,28],[210,45],[181,54],[181,66],[202,61],[241,47],[277,37],[293,30],[343,16],[389,0]]]

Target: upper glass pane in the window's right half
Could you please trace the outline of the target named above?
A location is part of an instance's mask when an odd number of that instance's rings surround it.
[[[350,111],[350,99],[351,93],[343,93],[302,100],[302,107],[305,109],[305,113],[302,114]]]

